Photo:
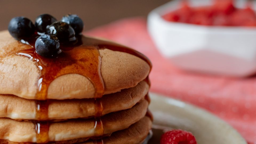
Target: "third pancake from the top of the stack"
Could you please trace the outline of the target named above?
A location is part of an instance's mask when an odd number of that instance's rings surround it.
[[[53,122],[49,126],[49,141],[67,141],[70,139],[95,137],[128,128],[142,119],[147,112],[148,102],[143,100],[131,109],[109,113],[101,117],[103,129],[98,129],[100,122],[95,119],[71,119]],[[96,127],[96,128],[95,128]],[[100,132],[103,130],[102,132]],[[0,118],[0,139],[13,142],[36,142],[35,124],[33,122],[15,121]]]

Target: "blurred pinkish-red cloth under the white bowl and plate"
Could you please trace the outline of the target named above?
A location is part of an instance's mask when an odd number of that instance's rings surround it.
[[[143,18],[128,18],[86,31],[132,47],[153,63],[151,91],[200,106],[256,144],[256,77],[227,78],[178,70],[161,56]],[[225,137],[225,136],[224,136]]]

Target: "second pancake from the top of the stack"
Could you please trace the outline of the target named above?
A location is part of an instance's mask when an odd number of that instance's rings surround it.
[[[103,95],[101,100],[102,114],[130,109],[144,99],[149,85],[142,81],[137,86],[123,89],[121,92]],[[36,119],[36,101],[14,95],[0,94],[0,117],[12,119]],[[95,99],[49,100],[48,118],[74,119],[92,117],[97,114]]]

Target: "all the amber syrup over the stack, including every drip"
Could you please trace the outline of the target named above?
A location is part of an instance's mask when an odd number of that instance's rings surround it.
[[[87,77],[95,88],[95,136],[104,134],[104,128],[100,119],[103,111],[101,97],[104,94],[104,82],[101,77],[101,56],[99,49],[110,49],[135,55],[146,61],[151,70],[151,62],[143,54],[128,47],[118,45],[113,42],[103,41],[90,37],[78,36],[74,44],[61,44],[62,52],[56,58],[45,58],[38,55],[35,51],[35,38],[29,39],[23,43],[30,45],[30,49],[19,51],[18,55],[23,55],[37,62],[40,70],[38,79],[38,89],[35,96],[36,101],[36,119],[39,121],[35,124],[37,133],[37,143],[48,142],[49,123],[41,122],[48,119],[47,101],[48,87],[57,77],[65,74],[80,74]],[[145,81],[150,85],[149,78]],[[147,100],[149,97],[147,95]],[[150,100],[149,100],[150,101]],[[147,112],[148,113],[148,112]],[[150,115],[150,114],[148,114]],[[153,119],[152,115],[150,117]],[[97,144],[103,144],[103,141],[96,141]]]

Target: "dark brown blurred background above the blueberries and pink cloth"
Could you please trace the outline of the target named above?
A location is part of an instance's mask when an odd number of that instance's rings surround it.
[[[49,13],[58,20],[67,13],[78,14],[85,30],[111,21],[133,16],[146,17],[157,6],[169,0],[0,0],[0,30],[7,29],[11,18],[31,19]]]

